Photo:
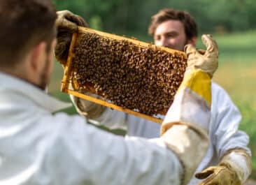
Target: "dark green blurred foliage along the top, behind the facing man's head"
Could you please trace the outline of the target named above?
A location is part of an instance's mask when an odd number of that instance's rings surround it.
[[[229,32],[255,29],[254,0],[53,0],[57,10],[68,9],[85,17],[90,27],[127,34],[146,34],[150,17],[162,8],[186,10],[197,20],[201,32]]]

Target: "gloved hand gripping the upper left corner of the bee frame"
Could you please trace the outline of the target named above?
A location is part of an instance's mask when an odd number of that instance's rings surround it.
[[[78,26],[87,27],[87,23],[79,15],[71,13],[69,10],[57,12],[57,45],[55,47],[55,57],[59,63],[65,65],[69,55],[72,34],[78,30]]]

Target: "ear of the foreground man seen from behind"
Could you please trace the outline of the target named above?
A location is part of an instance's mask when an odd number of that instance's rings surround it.
[[[46,52],[45,52],[46,43],[41,42],[38,43],[31,51],[31,68],[36,73],[41,70],[41,68],[45,65],[43,61],[45,61]]]

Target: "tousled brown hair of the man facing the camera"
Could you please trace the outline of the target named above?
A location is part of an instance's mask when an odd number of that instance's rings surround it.
[[[179,20],[183,23],[185,34],[188,40],[193,37],[197,37],[197,23],[194,18],[185,11],[173,10],[172,8],[165,8],[159,10],[159,12],[151,17],[150,26],[148,27],[148,34],[154,36],[155,30],[168,20]]]

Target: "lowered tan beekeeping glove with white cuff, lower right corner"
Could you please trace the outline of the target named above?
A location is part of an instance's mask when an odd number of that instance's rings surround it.
[[[244,149],[232,149],[222,157],[219,165],[198,172],[195,177],[203,179],[199,185],[241,185],[250,172],[250,155]]]

